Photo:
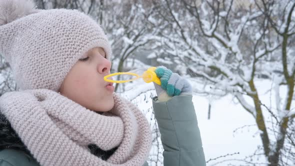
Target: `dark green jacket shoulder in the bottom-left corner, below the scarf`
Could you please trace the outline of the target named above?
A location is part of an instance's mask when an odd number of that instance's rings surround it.
[[[0,166],[39,166],[36,160],[21,150],[0,150]]]

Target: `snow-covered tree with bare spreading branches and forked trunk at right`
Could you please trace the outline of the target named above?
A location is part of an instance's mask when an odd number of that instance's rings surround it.
[[[154,0],[162,49],[157,56],[176,64],[176,70],[203,78],[209,86],[196,92],[231,93],[256,121],[269,165],[284,164],[282,157],[295,80],[295,2],[293,0]],[[274,79],[276,110],[265,105],[278,127],[270,138],[263,103],[255,86],[258,78]],[[279,87],[286,85],[284,101]],[[247,101],[250,98],[251,101]],[[294,150],[294,147],[292,148]],[[284,151],[286,152],[286,151]],[[294,157],[294,156],[292,156]],[[294,158],[293,158],[294,159]]]

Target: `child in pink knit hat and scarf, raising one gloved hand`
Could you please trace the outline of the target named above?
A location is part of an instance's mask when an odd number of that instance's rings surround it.
[[[101,27],[34,6],[0,1],[0,54],[19,87],[0,97],[0,165],[147,165],[146,118],[103,80],[111,49]],[[156,74],[164,165],[205,165],[189,83],[165,67]]]

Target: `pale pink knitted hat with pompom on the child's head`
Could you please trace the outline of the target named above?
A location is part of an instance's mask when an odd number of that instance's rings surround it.
[[[91,17],[71,9],[35,9],[33,0],[0,0],[0,54],[20,89],[57,91],[89,49],[110,44]]]

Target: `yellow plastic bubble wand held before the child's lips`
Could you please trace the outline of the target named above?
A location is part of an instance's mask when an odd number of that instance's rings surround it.
[[[138,75],[138,74],[133,73],[133,72],[115,72],[115,73],[108,74],[108,75],[104,76],[103,79],[105,81],[107,81],[107,82],[125,83],[125,82],[129,82],[129,81],[133,81],[133,80],[138,79],[138,78],[142,78],[144,80],[144,82],[146,82],[146,83],[155,82],[156,84],[161,85],[160,79],[156,76],[156,73],[154,72],[155,69],[156,69],[156,67],[149,67],[147,70],[145,70],[143,72],[142,75]],[[132,79],[128,79],[128,80],[112,80],[112,79],[107,79],[110,76],[121,75],[121,74],[133,75],[133,76],[136,76],[136,77],[135,78],[132,78]]]

